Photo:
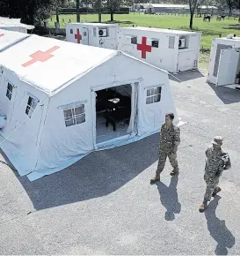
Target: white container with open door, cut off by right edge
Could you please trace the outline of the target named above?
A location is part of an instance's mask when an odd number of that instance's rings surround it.
[[[208,65],[207,82],[216,87],[239,89],[240,37],[214,38]]]

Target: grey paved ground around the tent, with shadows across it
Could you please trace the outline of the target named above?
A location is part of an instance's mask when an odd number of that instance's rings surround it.
[[[178,116],[188,122],[178,179],[168,162],[162,182],[149,184],[158,134],[89,154],[33,183],[0,163],[0,253],[240,254],[240,92],[211,87],[200,72],[178,79],[171,87]],[[200,214],[204,152],[215,135],[224,137],[232,169]]]

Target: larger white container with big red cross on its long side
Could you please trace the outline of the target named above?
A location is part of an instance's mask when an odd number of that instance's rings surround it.
[[[198,69],[200,33],[153,27],[119,29],[118,49],[149,64],[178,73]]]

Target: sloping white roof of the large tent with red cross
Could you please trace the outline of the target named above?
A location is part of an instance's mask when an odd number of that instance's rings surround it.
[[[1,55],[0,63],[40,91],[55,94],[67,86],[71,79],[84,75],[116,53],[114,50],[85,45],[79,47],[76,44],[32,35],[27,41],[11,48],[11,56],[18,58],[12,61],[10,52],[7,51]],[[39,60],[31,64],[34,59]]]

